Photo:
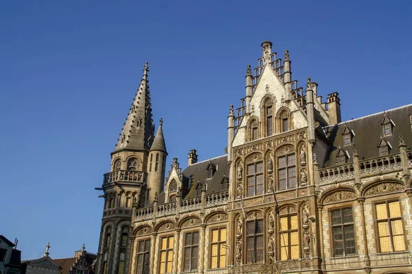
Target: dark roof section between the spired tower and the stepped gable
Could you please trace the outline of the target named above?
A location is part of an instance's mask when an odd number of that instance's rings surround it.
[[[216,169],[213,177],[207,179],[207,167],[211,165]],[[198,182],[205,182],[207,184],[206,195],[213,192],[223,191],[222,189],[222,179],[224,176],[229,178],[229,165],[227,164],[227,155],[222,155],[216,158],[211,158],[202,162],[197,162],[187,166],[183,171],[185,177],[191,177],[192,187],[188,190],[187,194],[183,199],[196,197]]]

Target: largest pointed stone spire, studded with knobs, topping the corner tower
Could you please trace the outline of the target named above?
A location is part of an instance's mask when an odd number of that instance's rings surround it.
[[[143,79],[141,79],[137,89],[122,133],[117,140],[116,151],[120,149],[147,150],[150,147],[150,140],[152,140],[154,132],[148,71],[149,65],[146,62],[143,69]]]

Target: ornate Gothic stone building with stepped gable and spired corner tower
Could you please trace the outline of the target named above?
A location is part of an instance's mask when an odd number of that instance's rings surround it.
[[[412,105],[342,122],[338,93],[299,87],[271,47],[230,107],[227,154],[192,150],[167,175],[145,65],[98,188],[98,274],[412,271]]]

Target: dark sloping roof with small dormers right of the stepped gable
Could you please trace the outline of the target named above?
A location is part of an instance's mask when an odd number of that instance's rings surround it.
[[[354,133],[352,143],[356,145],[361,160],[379,156],[378,145],[381,138],[391,145],[389,154],[398,153],[399,134],[403,134],[407,149],[411,149],[412,132],[409,115],[412,115],[412,104],[323,127],[326,136],[332,141],[323,167],[336,166],[336,154],[339,152],[339,148],[349,155],[350,158],[347,159],[347,162],[353,162],[353,147],[352,145],[345,146],[343,140],[345,128]],[[385,116],[394,124],[390,136],[383,136],[382,121]]]

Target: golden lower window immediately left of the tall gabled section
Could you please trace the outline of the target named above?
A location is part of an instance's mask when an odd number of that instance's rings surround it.
[[[226,267],[226,227],[212,229],[209,244],[211,269]]]

